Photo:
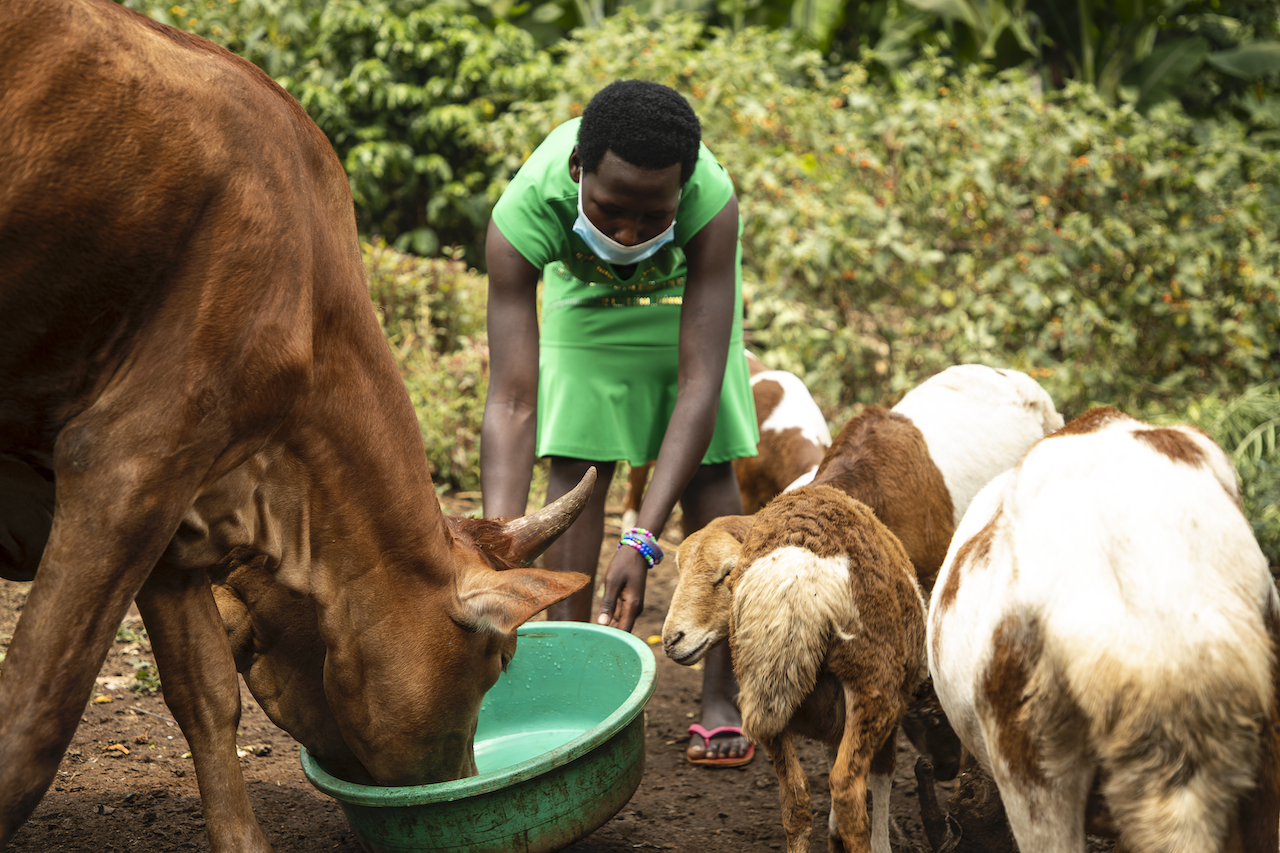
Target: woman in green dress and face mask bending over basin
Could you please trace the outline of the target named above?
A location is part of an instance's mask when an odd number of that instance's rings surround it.
[[[549,616],[631,630],[655,533],[678,500],[686,533],[742,512],[732,460],[758,432],[742,357],[740,223],[733,186],[675,90],[617,81],[556,128],[489,224],[489,396],[480,471],[489,517],[524,515],[535,457],[547,501],[590,466],[598,487],[545,565],[595,578],[614,464],[657,460],[636,528],[595,584]],[[538,280],[544,282],[539,330]],[[728,647],[707,656],[689,760],[735,766],[741,735]]]

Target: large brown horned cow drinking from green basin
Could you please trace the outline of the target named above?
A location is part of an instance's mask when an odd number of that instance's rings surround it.
[[[0,672],[0,848],[134,599],[212,850],[269,849],[236,658],[335,767],[474,774],[515,628],[585,583],[516,566],[590,482],[511,523],[440,511],[347,178],[266,74],[108,0],[5,0],[0,45],[0,575],[35,576]]]

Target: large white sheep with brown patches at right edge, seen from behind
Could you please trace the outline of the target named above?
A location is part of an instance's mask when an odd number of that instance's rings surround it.
[[[1226,453],[1114,409],[978,493],[929,611],[938,698],[1037,853],[1080,853],[1087,826],[1275,853],[1277,642]]]

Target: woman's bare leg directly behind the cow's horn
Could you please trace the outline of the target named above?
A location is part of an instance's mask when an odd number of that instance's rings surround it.
[[[564,601],[547,608],[547,617],[554,621],[586,622],[594,616],[591,603],[595,599],[595,566],[600,561],[600,543],[604,542],[604,501],[609,494],[614,464],[590,462],[563,456],[552,457],[550,474],[547,480],[547,503],[572,491],[582,480],[586,469],[593,465],[595,466],[595,489],[582,508],[582,514],[543,555],[543,566],[547,569],[580,571],[591,579],[591,583]]]

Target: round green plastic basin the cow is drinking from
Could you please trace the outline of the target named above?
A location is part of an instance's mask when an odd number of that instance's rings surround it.
[[[644,775],[653,651],[586,622],[530,622],[480,706],[479,776],[357,785],[302,749],[302,771],[342,806],[370,853],[544,853],[590,835]]]

